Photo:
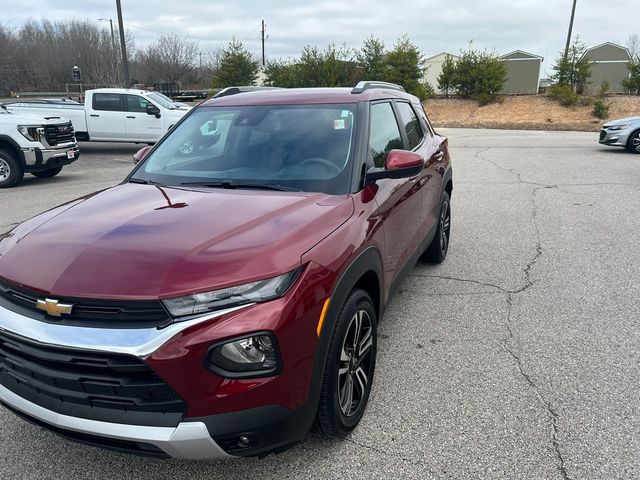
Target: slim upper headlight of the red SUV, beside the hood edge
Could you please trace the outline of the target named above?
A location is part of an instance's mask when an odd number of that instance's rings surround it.
[[[194,293],[186,297],[170,298],[162,303],[174,317],[211,312],[248,303],[273,300],[286,293],[298,278],[301,268],[257,282],[245,283],[237,287],[228,287],[212,292]]]

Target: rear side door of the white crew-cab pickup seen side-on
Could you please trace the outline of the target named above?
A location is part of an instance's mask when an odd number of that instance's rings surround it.
[[[120,93],[95,92],[87,110],[91,140],[122,141],[125,136],[125,98]]]

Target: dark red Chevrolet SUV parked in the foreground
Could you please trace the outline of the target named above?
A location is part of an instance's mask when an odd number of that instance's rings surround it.
[[[178,458],[342,437],[391,293],[447,254],[452,186],[446,138],[396,85],[201,103],[122,184],[0,240],[0,401]]]

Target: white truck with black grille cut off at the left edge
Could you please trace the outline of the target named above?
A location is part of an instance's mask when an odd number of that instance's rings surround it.
[[[53,177],[79,157],[66,118],[15,114],[0,107],[0,188],[19,184],[25,172]]]

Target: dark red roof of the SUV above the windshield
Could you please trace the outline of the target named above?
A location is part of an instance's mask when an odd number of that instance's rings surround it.
[[[390,88],[371,88],[353,93],[352,88],[283,88],[259,90],[212,98],[199,107],[243,106],[243,105],[306,105],[321,103],[358,103],[385,98],[403,98],[418,101],[417,97]]]

